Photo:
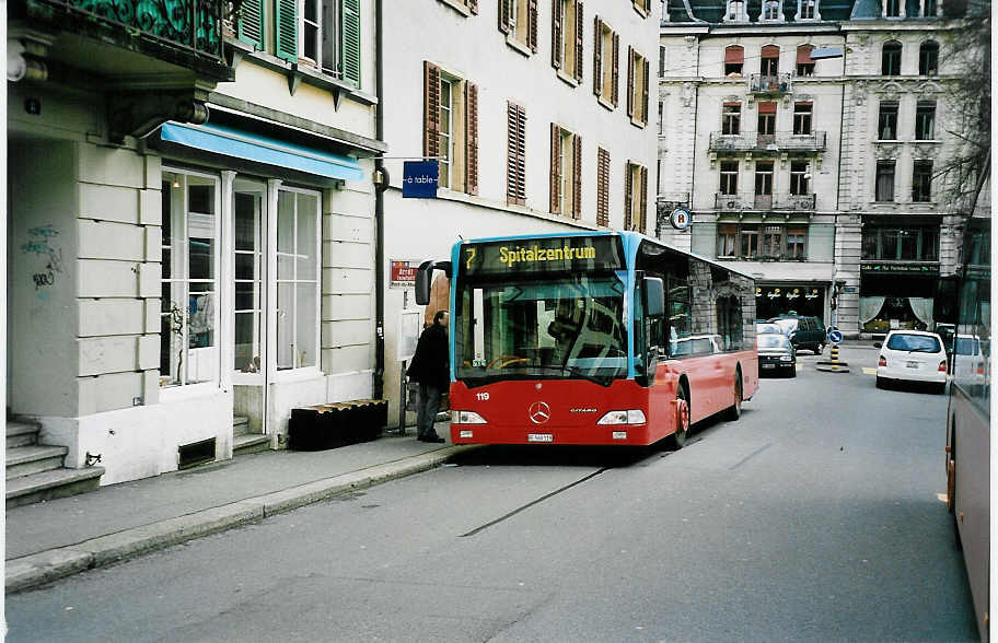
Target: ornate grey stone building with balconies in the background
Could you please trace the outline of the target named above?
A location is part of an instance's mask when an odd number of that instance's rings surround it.
[[[942,198],[954,11],[669,2],[658,200],[693,224],[663,238],[754,274],[761,318],[815,315],[847,337],[933,327],[964,217]]]

